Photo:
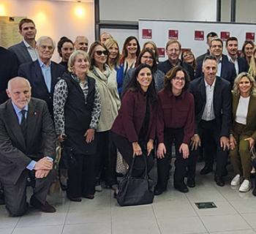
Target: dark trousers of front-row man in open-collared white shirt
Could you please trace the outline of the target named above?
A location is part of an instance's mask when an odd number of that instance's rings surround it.
[[[213,167],[214,154],[216,152],[216,171],[215,175],[221,177],[225,174],[227,165],[227,150],[223,151],[220,147],[220,129],[216,121],[200,121],[199,135],[203,145],[206,167]]]

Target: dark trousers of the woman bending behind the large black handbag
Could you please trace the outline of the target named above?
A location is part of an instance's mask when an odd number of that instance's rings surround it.
[[[130,167],[132,165],[132,155],[133,155],[132,143],[130,143],[126,137],[122,137],[121,135],[118,135],[114,132],[110,132],[110,136],[116,148],[118,148],[118,151],[121,153],[121,155],[124,157],[124,160],[127,162],[127,164]],[[143,154],[147,155],[146,142],[145,143],[139,142],[139,145],[143,151]],[[154,166],[154,159],[153,159],[152,152],[149,156],[146,156],[146,164],[147,164],[148,173],[149,173],[149,171]],[[142,177],[145,173],[145,166],[146,165],[145,165],[143,156],[136,156],[135,164],[133,165],[132,176]]]

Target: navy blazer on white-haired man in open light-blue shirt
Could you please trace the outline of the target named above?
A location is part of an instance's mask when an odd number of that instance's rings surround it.
[[[37,97],[39,99],[45,100],[48,105],[50,114],[53,116],[53,91],[58,78],[64,73],[65,68],[51,61],[51,86],[50,93],[45,83],[45,79],[42,75],[42,69],[39,66],[39,62],[32,61],[30,63],[21,64],[18,69],[18,75],[20,77],[26,78],[31,83],[32,97]]]

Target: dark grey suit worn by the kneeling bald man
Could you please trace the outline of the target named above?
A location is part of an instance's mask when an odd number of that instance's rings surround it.
[[[26,167],[31,159],[37,161],[55,154],[56,135],[44,101],[31,98],[27,123],[25,143],[11,100],[0,105],[0,181],[11,216],[20,216],[27,211],[26,178],[34,171]],[[45,203],[53,179],[53,171],[46,178],[36,179],[34,197],[41,203]]]

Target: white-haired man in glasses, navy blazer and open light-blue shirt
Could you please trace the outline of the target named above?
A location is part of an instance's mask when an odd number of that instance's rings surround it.
[[[31,83],[32,97],[45,100],[50,114],[53,116],[53,91],[57,78],[61,77],[65,68],[54,61],[53,56],[55,44],[50,37],[40,37],[37,40],[37,61],[21,64],[18,75],[26,78]]]

